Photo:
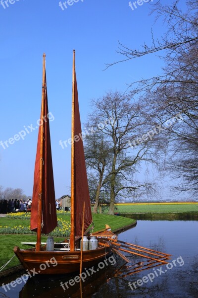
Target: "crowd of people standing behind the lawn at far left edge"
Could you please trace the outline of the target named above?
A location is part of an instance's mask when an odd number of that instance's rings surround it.
[[[0,213],[7,214],[13,212],[29,212],[31,211],[32,201],[22,201],[17,199],[0,200]]]

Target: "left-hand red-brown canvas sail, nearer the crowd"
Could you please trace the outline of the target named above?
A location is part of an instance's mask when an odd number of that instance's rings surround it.
[[[45,55],[44,55],[45,65]],[[42,127],[43,126],[43,127]],[[42,136],[43,135],[43,136]],[[41,153],[42,152],[42,153]],[[41,185],[40,185],[40,182]],[[40,190],[42,187],[42,191]],[[41,191],[41,192],[40,192]],[[55,191],[53,182],[53,167],[51,159],[51,144],[49,132],[48,95],[46,84],[46,70],[43,74],[42,109],[37,143],[37,154],[34,172],[34,187],[31,209],[31,230],[38,231],[39,199],[42,200],[41,232],[48,234],[57,226]]]

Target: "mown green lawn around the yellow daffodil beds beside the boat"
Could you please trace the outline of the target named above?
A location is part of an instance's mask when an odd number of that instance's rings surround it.
[[[58,215],[58,218],[61,218],[65,221],[70,222],[70,216],[66,215]],[[123,227],[129,224],[133,224],[136,221],[129,218],[123,218],[119,216],[111,216],[107,214],[93,214],[94,221],[94,231],[98,231],[105,228],[105,224],[111,226],[112,230],[115,230],[119,227]],[[29,226],[30,220],[19,220],[19,219],[8,219],[8,218],[0,218],[1,226]],[[47,237],[42,236],[42,242],[46,242]],[[55,238],[54,241],[62,241],[64,238]],[[7,261],[11,259],[14,255],[13,247],[15,245],[20,248],[30,248],[28,245],[23,245],[21,242],[36,242],[36,235],[23,235],[23,234],[7,234],[0,235],[0,267],[4,265]],[[14,257],[12,261],[5,267],[4,270],[7,270],[11,267],[20,265],[17,257]]]

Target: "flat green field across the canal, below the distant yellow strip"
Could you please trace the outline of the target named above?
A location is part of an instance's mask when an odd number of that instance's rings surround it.
[[[198,212],[198,203],[196,204],[185,204],[185,203],[177,203],[177,204],[144,204],[139,205],[136,203],[132,205],[117,205],[117,210],[115,212],[118,213],[182,213],[182,212]]]

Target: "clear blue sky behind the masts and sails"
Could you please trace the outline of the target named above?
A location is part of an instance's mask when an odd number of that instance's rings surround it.
[[[14,0],[10,0],[14,2]],[[63,1],[62,1],[63,2]],[[0,5],[0,141],[14,137],[24,126],[37,126],[41,108],[42,56],[46,71],[52,160],[56,198],[70,187],[70,148],[59,140],[71,136],[72,55],[76,50],[76,74],[82,123],[93,98],[106,91],[126,90],[126,83],[160,73],[155,56],[117,64],[118,40],[138,48],[149,44],[150,4],[132,10],[128,0],[79,0],[67,8],[59,0],[17,0]],[[167,2],[167,1],[165,1]],[[154,3],[154,0],[153,0]],[[162,20],[154,26],[158,37],[166,30]],[[30,129],[29,129],[30,131]],[[22,188],[32,195],[38,129],[24,140],[0,146],[0,185]]]

